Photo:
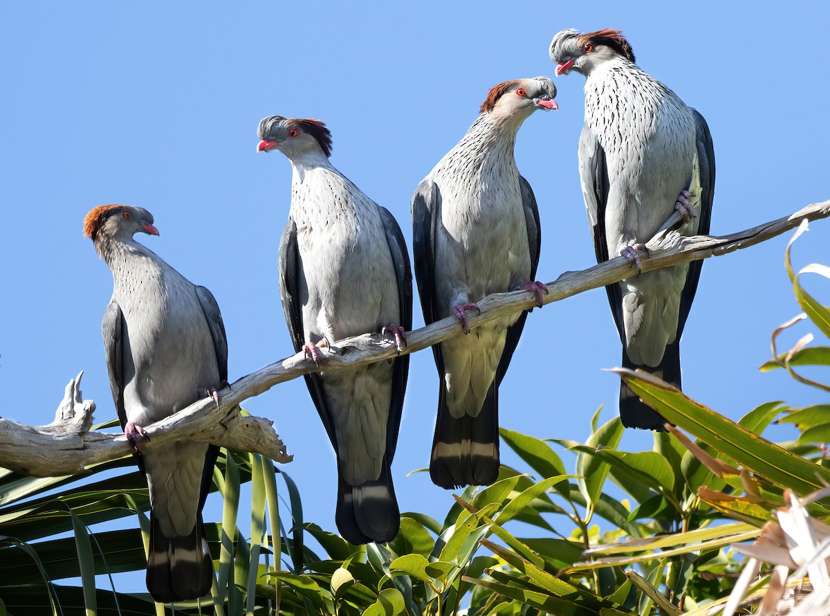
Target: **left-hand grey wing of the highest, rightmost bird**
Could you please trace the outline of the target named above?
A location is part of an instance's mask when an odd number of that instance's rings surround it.
[[[597,262],[608,261],[608,241],[605,234],[605,208],[608,205],[608,167],[605,162],[605,150],[598,140],[588,130],[583,128],[579,137],[579,178],[582,181],[582,192],[585,198],[585,208],[588,210],[588,222],[591,224],[593,237],[593,251],[597,255]],[[623,325],[623,295],[618,284],[605,287],[608,294],[608,303],[614,323],[625,345],[625,325]]]

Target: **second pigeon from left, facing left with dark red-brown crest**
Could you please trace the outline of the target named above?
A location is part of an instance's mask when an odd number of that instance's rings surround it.
[[[291,213],[280,242],[280,295],[294,349],[369,332],[398,349],[412,329],[412,271],[398,222],[331,164],[331,134],[318,120],[263,119],[257,150],[291,161]],[[392,458],[409,356],[349,370],[307,374],[337,456],[335,521],[355,545],[389,541],[400,512]]]

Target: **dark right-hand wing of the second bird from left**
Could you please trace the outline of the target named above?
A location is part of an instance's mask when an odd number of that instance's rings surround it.
[[[389,252],[392,255],[392,263],[395,267],[395,277],[398,280],[398,305],[400,306],[401,325],[404,330],[411,331],[413,328],[413,275],[409,265],[409,252],[407,242],[403,239],[401,227],[398,221],[389,213],[388,209],[378,206],[380,220],[383,222],[383,230],[386,232],[386,242]],[[401,424],[401,413],[403,411],[403,396],[407,390],[407,377],[409,374],[409,355],[403,355],[395,359],[392,380],[392,404],[389,408],[389,418],[386,428],[387,447],[389,462],[395,455],[395,447],[398,443],[398,431]]]

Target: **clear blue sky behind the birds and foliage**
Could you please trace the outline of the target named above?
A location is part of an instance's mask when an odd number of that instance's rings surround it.
[[[398,218],[409,241],[417,183],[461,139],[491,86],[553,76],[549,42],[566,27],[622,28],[639,65],[706,117],[717,159],[713,234],[830,198],[826,42],[814,34],[830,17],[826,3],[774,12],[730,2],[506,6],[3,5],[2,416],[50,422],[80,369],[96,418],[115,415],[100,340],[112,280],[81,237],[90,208],[128,203],[154,214],[161,236],[140,241],[217,297],[238,379],[291,354],[276,279],[291,168],[279,154],[256,154],[259,120],[325,121],[334,165]],[[583,83],[557,78],[559,111],[531,116],[516,144],[540,205],[543,281],[594,262],[576,158]],[[757,370],[769,333],[798,312],[783,266],[787,237],[703,268],[681,345],[684,389],[730,418],[773,399],[826,400]],[[796,263],[830,262],[828,242],[830,222],[814,222]],[[500,390],[502,426],[583,440],[600,405],[603,421],[617,412],[618,379],[602,369],[619,363],[604,291],[535,310]],[[413,355],[393,472],[402,511],[442,519],[450,493],[425,473],[406,477],[427,466],[437,386],[432,354]],[[303,381],[245,406],[272,418],[295,455],[285,470],[306,517],[334,529],[334,455]],[[623,440],[629,451],[651,447],[647,433]],[[517,464],[504,449],[504,462]],[[219,517],[216,501],[206,517]]]

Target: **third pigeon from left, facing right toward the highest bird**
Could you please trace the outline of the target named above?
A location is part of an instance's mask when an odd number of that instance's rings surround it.
[[[499,291],[525,289],[540,306],[535,282],[539,209],[516,169],[522,122],[537,109],[558,109],[547,77],[493,87],[464,138],[413,194],[413,256],[427,324],[466,310]],[[444,488],[483,486],[499,473],[499,385],[527,313],[510,315],[432,347],[440,379],[429,473]]]

